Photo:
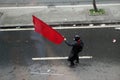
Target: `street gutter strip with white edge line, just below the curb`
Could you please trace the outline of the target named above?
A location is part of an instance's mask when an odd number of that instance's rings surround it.
[[[62,29],[91,29],[91,28],[114,28],[116,30],[120,29],[120,24],[114,24],[114,25],[106,25],[106,24],[100,24],[100,25],[93,25],[93,24],[89,24],[87,26],[76,26],[76,25],[72,25],[72,26],[54,26],[53,29],[58,29],[58,30],[62,30]],[[0,27],[0,31],[28,31],[28,30],[34,30],[34,26],[33,25],[29,25],[29,26],[12,26],[12,27]]]

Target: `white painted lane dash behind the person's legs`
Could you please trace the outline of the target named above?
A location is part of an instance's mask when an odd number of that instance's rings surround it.
[[[79,59],[90,59],[92,56],[79,56]],[[32,58],[32,60],[61,60],[68,59],[68,57],[41,57],[41,58]]]

